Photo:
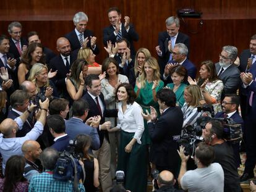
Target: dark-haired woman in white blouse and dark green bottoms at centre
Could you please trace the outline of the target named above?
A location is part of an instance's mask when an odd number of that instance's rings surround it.
[[[117,170],[124,171],[126,190],[144,192],[147,191],[147,148],[142,136],[142,107],[135,102],[136,94],[129,83],[121,83],[116,90],[119,123],[109,131],[121,129]]]

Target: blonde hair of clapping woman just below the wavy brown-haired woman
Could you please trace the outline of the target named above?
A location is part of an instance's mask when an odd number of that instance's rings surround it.
[[[32,69],[30,70],[30,75],[28,77],[28,81],[32,81],[32,83],[35,84],[36,86],[36,91],[40,91],[40,88],[38,87],[37,83],[36,83],[36,75],[39,75],[39,73],[41,73],[41,70],[43,69],[46,69],[46,71],[48,72],[48,68],[46,65],[44,64],[40,64],[40,63],[36,63],[36,64],[33,64],[33,67]],[[47,78],[47,81],[46,81],[46,87],[49,86],[49,78]]]

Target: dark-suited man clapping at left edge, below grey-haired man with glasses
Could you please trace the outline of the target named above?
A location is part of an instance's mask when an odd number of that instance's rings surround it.
[[[13,91],[19,89],[19,81],[17,76],[18,65],[14,56],[9,53],[10,42],[6,35],[0,35],[0,67],[6,68],[9,79],[12,80]],[[6,80],[4,80],[6,81]],[[11,91],[11,93],[13,92]]]

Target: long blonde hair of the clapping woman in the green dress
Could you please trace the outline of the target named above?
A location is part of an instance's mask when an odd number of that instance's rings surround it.
[[[158,65],[158,62],[156,61],[156,58],[155,57],[148,57],[145,60],[143,66],[142,66],[143,70],[142,70],[142,75],[140,76],[140,83],[142,85],[142,88],[145,87],[146,80],[147,80],[147,74],[144,70],[144,66],[145,66],[146,63],[154,70],[152,81],[159,81],[160,80],[159,65]]]

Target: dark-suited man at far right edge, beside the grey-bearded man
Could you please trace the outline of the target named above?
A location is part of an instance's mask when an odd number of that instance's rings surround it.
[[[238,66],[238,69],[240,70],[240,72],[248,72],[250,65],[256,63],[256,35],[253,35],[250,38],[249,49],[243,50],[239,59],[240,59],[240,65]],[[241,98],[241,105],[240,105],[241,114],[244,120],[245,120],[245,112],[246,112],[246,104],[247,104],[247,99],[246,99],[247,95],[248,95],[248,89],[244,88],[244,86],[241,85],[239,87],[239,96]]]

